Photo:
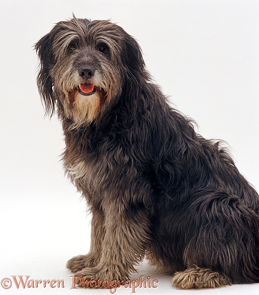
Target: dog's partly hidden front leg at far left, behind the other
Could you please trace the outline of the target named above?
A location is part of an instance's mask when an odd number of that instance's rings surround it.
[[[67,262],[66,267],[72,273],[79,272],[85,268],[95,267],[100,261],[104,240],[104,213],[101,210],[95,210],[92,213],[90,251],[87,255],[73,257]]]

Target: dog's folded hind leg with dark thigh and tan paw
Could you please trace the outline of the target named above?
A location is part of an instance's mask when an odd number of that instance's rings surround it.
[[[178,288],[216,288],[259,282],[259,216],[225,192],[197,192],[185,222],[186,269],[175,273]]]

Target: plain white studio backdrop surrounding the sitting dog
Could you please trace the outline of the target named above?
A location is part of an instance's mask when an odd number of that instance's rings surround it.
[[[64,177],[56,117],[44,119],[33,44],[55,22],[108,19],[133,35],[148,70],[172,103],[194,118],[206,138],[232,148],[242,174],[259,189],[259,1],[256,0],[0,0],[0,280],[30,276],[64,280],[64,289],[0,294],[110,294],[70,290],[65,263],[86,254],[90,216]],[[136,294],[258,295],[259,284],[180,291],[146,265],[138,274],[159,280]],[[131,294],[120,288],[116,294]]]

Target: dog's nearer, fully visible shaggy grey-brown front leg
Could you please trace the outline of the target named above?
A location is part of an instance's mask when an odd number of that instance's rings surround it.
[[[75,274],[78,282],[125,281],[134,265],[144,256],[149,241],[149,219],[144,207],[122,208],[117,203],[105,206],[105,235],[99,264]],[[80,280],[79,278],[84,278]],[[85,287],[85,286],[81,286]]]

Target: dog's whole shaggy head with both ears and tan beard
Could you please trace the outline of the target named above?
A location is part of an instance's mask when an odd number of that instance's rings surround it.
[[[138,84],[144,62],[137,42],[106,20],[58,22],[35,45],[40,57],[37,83],[46,114],[57,105],[61,119],[77,128],[89,124],[125,89]],[[131,81],[131,82],[130,82]]]

